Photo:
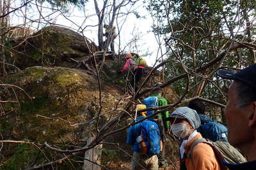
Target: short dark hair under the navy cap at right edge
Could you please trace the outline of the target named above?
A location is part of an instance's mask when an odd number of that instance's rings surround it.
[[[253,101],[256,101],[256,90],[254,87],[251,87],[246,83],[243,83],[243,81],[235,82],[238,97],[238,101],[236,104],[237,107],[241,108],[252,103]]]

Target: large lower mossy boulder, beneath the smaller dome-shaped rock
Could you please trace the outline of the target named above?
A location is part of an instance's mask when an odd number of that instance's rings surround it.
[[[72,145],[95,129],[95,119],[89,121],[99,111],[99,85],[93,76],[78,69],[34,66],[1,81],[17,85],[25,91],[15,87],[13,92],[9,87],[1,90],[1,96],[8,96],[10,101],[15,101],[17,96],[19,101],[19,104],[3,104],[6,113],[13,112],[0,120],[3,139]],[[121,98],[120,90],[102,82],[102,116],[99,127],[110,117],[106,112],[113,110]],[[118,106],[122,107],[122,104]],[[114,114],[111,116],[118,112],[112,112]],[[2,153],[15,153],[19,149],[20,146],[16,145],[12,149],[4,147]],[[22,160],[28,157],[28,152],[35,152],[35,149],[29,148],[20,153]],[[12,157],[12,164],[19,164],[20,157]],[[28,162],[33,157],[33,154],[29,156]],[[23,166],[20,168],[24,169]]]

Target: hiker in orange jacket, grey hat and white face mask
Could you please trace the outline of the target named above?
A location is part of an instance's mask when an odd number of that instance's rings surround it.
[[[170,118],[166,120],[172,122],[171,130],[173,135],[183,139],[180,146],[180,155],[182,161],[186,163],[186,169],[225,169],[222,162],[216,158],[214,150],[210,145],[207,143],[198,143],[195,147],[193,146],[196,139],[202,138],[202,135],[195,130],[201,124],[200,118],[195,110],[188,107],[177,108],[173,111]],[[193,150],[191,151],[190,148],[192,147]]]

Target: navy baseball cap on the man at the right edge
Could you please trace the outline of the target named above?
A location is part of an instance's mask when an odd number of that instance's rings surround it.
[[[252,64],[237,72],[220,69],[216,73],[221,78],[242,81],[251,87],[256,87],[256,64]]]

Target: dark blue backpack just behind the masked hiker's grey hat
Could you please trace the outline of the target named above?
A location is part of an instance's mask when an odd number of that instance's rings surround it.
[[[203,138],[210,139],[211,141],[228,141],[228,129],[225,125],[218,123],[206,115],[199,115],[199,117],[201,125],[196,130],[202,134]]]

